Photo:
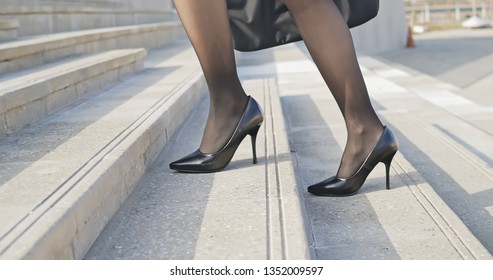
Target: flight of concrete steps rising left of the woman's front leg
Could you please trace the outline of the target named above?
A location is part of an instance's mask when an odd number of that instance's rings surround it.
[[[200,98],[177,20],[0,21],[0,258],[80,259]]]

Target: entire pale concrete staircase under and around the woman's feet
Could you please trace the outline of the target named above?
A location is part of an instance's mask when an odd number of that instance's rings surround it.
[[[360,57],[400,140],[393,188],[377,168],[356,196],[314,197],[345,134],[300,44],[238,54],[259,164],[246,140],[225,171],[181,174],[208,100],[176,19],[22,24],[0,21],[0,259],[491,259],[493,138],[466,118],[490,109],[454,107],[450,84]]]

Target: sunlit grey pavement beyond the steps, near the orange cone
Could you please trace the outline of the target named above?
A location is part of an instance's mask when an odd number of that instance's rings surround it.
[[[415,39],[416,48],[378,57],[455,85],[471,101],[493,106],[493,28],[431,32]]]

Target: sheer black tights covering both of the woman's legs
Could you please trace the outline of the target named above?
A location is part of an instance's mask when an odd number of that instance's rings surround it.
[[[337,175],[349,177],[383,127],[368,97],[351,35],[333,1],[284,0],[344,116],[347,141]],[[238,122],[247,96],[236,72],[225,0],[174,0],[201,63],[211,106],[200,149],[218,151]]]

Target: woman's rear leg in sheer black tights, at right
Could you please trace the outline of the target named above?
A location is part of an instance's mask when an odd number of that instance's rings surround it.
[[[284,2],[344,116],[348,137],[337,176],[349,177],[361,166],[383,132],[368,97],[351,34],[333,1]]]

